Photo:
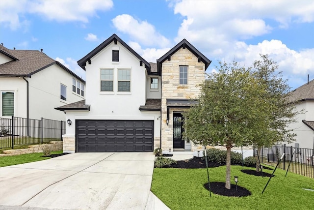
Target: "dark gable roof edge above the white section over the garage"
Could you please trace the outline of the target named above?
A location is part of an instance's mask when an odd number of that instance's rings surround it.
[[[85,65],[88,60],[93,58],[97,53],[102,51],[106,46],[108,46],[111,42],[120,42],[125,48],[127,48],[136,58],[138,58],[141,62],[144,63],[145,68],[147,69],[147,73],[151,74],[151,65],[149,62],[144,60],[140,55],[138,55],[129,45],[127,45],[122,39],[120,39],[119,36],[116,34],[113,34],[109,38],[107,38],[103,43],[101,43],[98,47],[96,47],[94,50],[92,50],[89,54],[87,54],[84,58],[78,60],[78,65],[85,70]]]

